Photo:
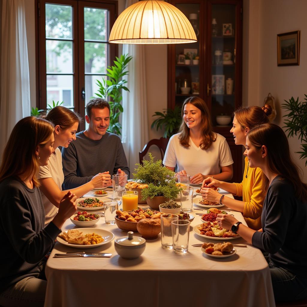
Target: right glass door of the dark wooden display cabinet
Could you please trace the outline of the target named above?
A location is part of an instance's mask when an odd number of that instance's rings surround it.
[[[207,97],[211,99],[213,126],[230,126],[236,95],[236,6],[212,4],[211,17]]]

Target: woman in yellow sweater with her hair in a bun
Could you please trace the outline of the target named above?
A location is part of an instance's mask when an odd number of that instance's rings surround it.
[[[268,116],[271,113],[272,108],[268,104],[262,108],[250,106],[241,107],[235,111],[233,127],[230,130],[235,138],[235,144],[245,146],[248,131],[258,125],[269,122]],[[229,183],[208,177],[203,181],[201,193],[206,200],[220,202],[231,209],[242,212],[248,227],[259,230],[261,229],[261,212],[266,195],[266,192],[262,191],[264,174],[258,167],[249,167],[246,151],[244,156],[245,167],[241,183]],[[219,192],[210,188],[212,185],[222,188],[235,196],[243,196],[243,201],[222,196]]]

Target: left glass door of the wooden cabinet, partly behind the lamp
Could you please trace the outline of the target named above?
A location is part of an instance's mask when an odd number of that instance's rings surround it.
[[[195,31],[197,42],[175,45],[175,105],[182,105],[182,102],[190,96],[200,95],[200,4],[198,3],[177,3],[175,5],[191,22]],[[202,79],[202,78],[201,78]]]

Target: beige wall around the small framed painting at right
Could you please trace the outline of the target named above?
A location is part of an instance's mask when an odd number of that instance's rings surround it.
[[[243,15],[244,28],[248,23],[248,40],[243,45],[248,49],[248,55],[243,57],[243,97],[249,105],[262,106],[263,99],[270,92],[277,107],[274,123],[284,126],[282,116],[286,112],[281,109],[281,104],[291,96],[303,100],[307,94],[307,1],[244,0],[244,6],[249,8],[244,8]],[[277,34],[296,30],[301,31],[300,65],[277,66]],[[289,138],[289,144],[293,159],[303,169],[304,181],[307,182],[305,160],[300,160],[299,154],[295,153],[300,150],[298,138]]]

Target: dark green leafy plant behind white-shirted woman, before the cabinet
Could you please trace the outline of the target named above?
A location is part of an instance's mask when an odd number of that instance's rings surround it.
[[[162,112],[155,112],[153,116],[158,116],[157,119],[151,124],[151,128],[156,128],[157,131],[164,128],[164,138],[170,138],[173,134],[177,133],[182,121],[181,108],[175,106],[173,109],[164,109]]]

